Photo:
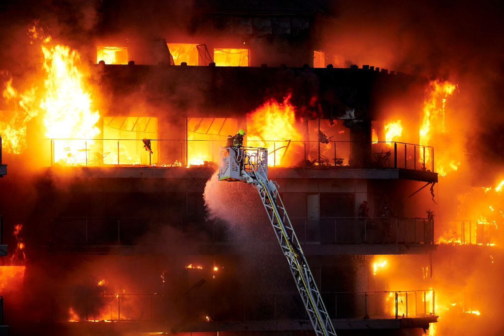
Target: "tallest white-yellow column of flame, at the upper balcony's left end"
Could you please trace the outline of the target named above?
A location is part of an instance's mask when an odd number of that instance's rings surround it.
[[[45,111],[45,135],[49,139],[93,139],[100,132],[95,126],[100,115],[93,111],[91,88],[86,86],[79,69],[79,54],[62,45],[42,46],[42,52],[47,73],[45,96],[40,104]],[[85,140],[56,140],[54,161],[82,163],[85,156],[78,156],[77,151],[86,150],[91,144],[85,144]]]

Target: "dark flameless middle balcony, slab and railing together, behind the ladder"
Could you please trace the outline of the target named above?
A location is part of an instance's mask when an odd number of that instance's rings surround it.
[[[437,246],[434,224],[424,218],[294,217],[291,222],[307,255],[426,253]],[[155,242],[139,238],[162,226],[146,218],[60,217],[53,221],[48,246],[58,253],[151,253]],[[187,254],[228,254],[239,244],[230,238],[228,225],[217,220],[180,219],[170,227],[195,242],[181,251]]]

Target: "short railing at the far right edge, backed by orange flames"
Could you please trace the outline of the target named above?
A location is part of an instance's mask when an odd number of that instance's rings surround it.
[[[495,223],[487,221],[449,221],[450,229],[437,239],[439,244],[495,245],[500,233]]]

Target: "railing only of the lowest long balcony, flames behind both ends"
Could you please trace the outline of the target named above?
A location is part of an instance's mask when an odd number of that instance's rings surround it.
[[[188,271],[192,272],[192,271]],[[202,272],[202,271],[194,271]],[[307,319],[298,293],[198,294],[174,299],[163,294],[56,295],[53,321],[159,321],[169,311],[219,322]],[[400,319],[435,316],[434,290],[322,292],[332,319]]]

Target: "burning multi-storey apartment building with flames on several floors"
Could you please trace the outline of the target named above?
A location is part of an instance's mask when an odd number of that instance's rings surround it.
[[[456,82],[354,65],[324,2],[51,6],[1,74],[11,334],[314,333],[267,204],[217,178],[239,129],[337,334],[498,330],[502,183]]]

